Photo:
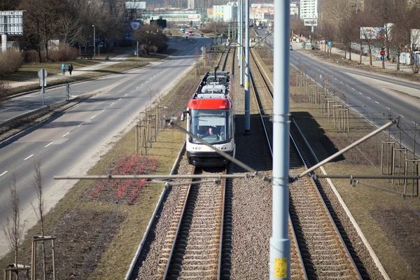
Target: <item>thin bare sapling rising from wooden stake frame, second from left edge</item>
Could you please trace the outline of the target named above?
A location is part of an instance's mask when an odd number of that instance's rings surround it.
[[[34,179],[32,180],[34,188],[36,190],[37,204],[32,204],[36,217],[41,222],[41,237],[44,237],[44,199],[43,199],[43,179],[41,173],[41,161],[34,160]],[[46,267],[45,267],[45,243],[42,241],[42,252],[43,252],[43,279],[46,279]]]

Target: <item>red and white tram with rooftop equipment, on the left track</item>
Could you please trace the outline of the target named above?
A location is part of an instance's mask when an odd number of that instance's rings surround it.
[[[188,102],[186,130],[220,151],[235,156],[235,111],[232,106],[232,75],[208,72]],[[191,165],[223,166],[228,160],[197,139],[186,137]]]

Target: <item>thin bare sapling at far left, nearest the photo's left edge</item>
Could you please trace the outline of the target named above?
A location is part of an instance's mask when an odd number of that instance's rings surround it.
[[[19,246],[23,238],[25,223],[20,221],[19,195],[16,189],[16,174],[12,174],[12,186],[10,187],[10,216],[6,217],[6,223],[3,225],[3,232],[10,251],[15,255],[15,264],[18,265]],[[19,272],[16,272],[19,279]]]

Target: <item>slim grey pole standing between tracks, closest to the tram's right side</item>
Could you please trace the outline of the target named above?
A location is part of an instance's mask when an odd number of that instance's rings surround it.
[[[249,0],[245,0],[245,134],[251,130],[251,101],[249,92]]]

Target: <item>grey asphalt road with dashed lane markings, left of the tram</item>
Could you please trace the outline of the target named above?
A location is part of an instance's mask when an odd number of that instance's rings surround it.
[[[45,209],[50,209],[73,186],[74,181],[55,181],[57,175],[82,175],[94,165],[113,141],[134,125],[134,118],[150,104],[151,94],[165,94],[195,62],[195,52],[211,44],[208,38],[195,43],[174,43],[179,52],[145,69],[73,85],[77,92],[100,91],[73,109],[38,125],[11,143],[0,145],[0,227],[9,213],[9,187],[13,174],[22,206],[25,228],[36,222],[31,202],[36,202],[33,186],[34,161],[41,162]],[[49,92],[51,102],[62,98],[59,88]],[[65,95],[64,95],[65,98]],[[20,97],[15,111],[39,105],[39,97]],[[9,111],[9,110],[8,110]],[[10,109],[10,111],[12,111]],[[6,112],[3,112],[6,113]],[[2,113],[0,113],[1,115]],[[0,256],[8,251],[0,231]]]

